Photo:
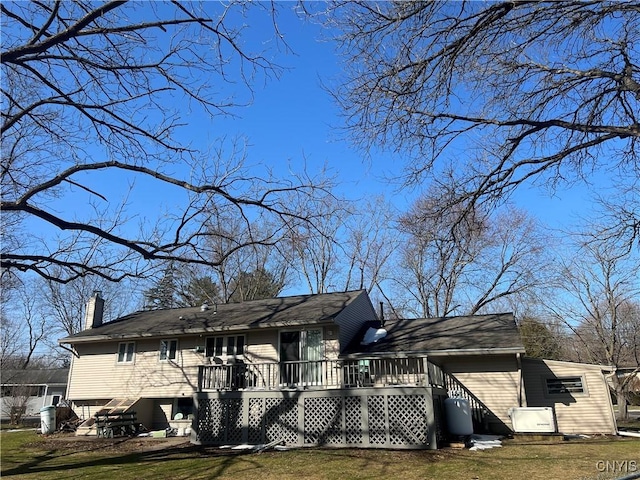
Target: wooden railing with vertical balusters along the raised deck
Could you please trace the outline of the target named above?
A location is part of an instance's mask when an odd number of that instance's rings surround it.
[[[443,386],[442,370],[424,357],[360,358],[201,365],[200,391]]]

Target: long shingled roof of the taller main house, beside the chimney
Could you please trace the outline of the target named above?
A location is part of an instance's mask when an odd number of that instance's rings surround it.
[[[331,322],[365,290],[296,295],[200,307],[146,310],[60,339],[81,343]]]

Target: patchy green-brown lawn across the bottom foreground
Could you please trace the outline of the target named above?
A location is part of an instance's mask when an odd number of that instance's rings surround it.
[[[146,441],[153,441],[145,439]],[[508,441],[471,452],[300,449],[231,454],[213,448],[166,447],[140,451],[140,439],[120,445],[100,439],[43,438],[35,432],[2,432],[1,477],[11,479],[605,479],[597,462],[635,461],[640,439],[594,438],[559,443]],[[127,443],[128,442],[128,443]],[[148,445],[148,443],[147,443]],[[628,464],[628,463],[627,463]],[[602,464],[600,464],[602,465]]]

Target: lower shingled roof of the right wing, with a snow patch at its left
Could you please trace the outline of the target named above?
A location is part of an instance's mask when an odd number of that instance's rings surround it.
[[[376,343],[362,345],[363,335],[356,337],[345,354],[524,353],[512,313],[396,320],[384,329]]]

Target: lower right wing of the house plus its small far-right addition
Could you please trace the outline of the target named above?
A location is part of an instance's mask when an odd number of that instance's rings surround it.
[[[549,409],[553,432],[617,432],[606,380],[611,368],[525,357],[510,313],[399,320],[385,329],[383,339],[352,345],[346,356],[427,357],[443,370],[448,392],[468,399],[477,432],[512,433],[515,408],[539,407]]]

